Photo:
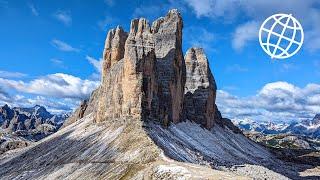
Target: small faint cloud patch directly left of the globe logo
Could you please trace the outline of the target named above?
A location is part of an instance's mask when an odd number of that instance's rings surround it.
[[[232,36],[232,47],[240,51],[249,41],[257,40],[259,25],[260,23],[256,21],[249,21],[238,26]]]

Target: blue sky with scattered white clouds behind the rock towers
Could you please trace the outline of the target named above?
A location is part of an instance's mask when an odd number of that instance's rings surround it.
[[[128,31],[132,18],[152,22],[177,8],[183,51],[205,49],[225,116],[311,118],[320,113],[319,7],[315,0],[0,0],[0,103],[72,110],[99,84],[110,28]],[[271,60],[258,42],[260,25],[275,13],[291,13],[305,31],[302,49],[286,60]]]

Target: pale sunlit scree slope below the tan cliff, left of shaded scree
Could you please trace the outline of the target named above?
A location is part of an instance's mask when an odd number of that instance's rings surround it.
[[[24,149],[0,156],[1,179],[246,179],[163,155],[139,120],[78,120]]]

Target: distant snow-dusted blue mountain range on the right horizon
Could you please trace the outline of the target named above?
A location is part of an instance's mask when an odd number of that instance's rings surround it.
[[[294,134],[320,138],[320,114],[311,120],[292,123],[256,122],[252,120],[234,121],[243,131],[261,132],[264,134]]]

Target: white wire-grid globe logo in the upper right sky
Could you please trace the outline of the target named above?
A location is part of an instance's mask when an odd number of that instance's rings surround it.
[[[271,58],[285,59],[295,55],[303,44],[304,33],[291,14],[275,14],[260,27],[259,42]]]

